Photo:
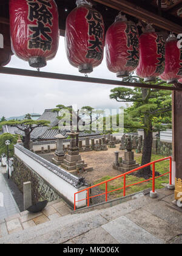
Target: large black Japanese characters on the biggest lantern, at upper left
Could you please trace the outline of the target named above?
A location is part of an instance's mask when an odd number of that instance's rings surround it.
[[[52,20],[53,15],[50,12],[52,4],[49,0],[27,0],[29,5],[28,19],[31,22],[36,21],[36,25],[29,25],[29,30],[32,32],[28,42],[29,49],[42,49],[42,51],[50,51],[52,45]],[[46,26],[48,25],[49,26]]]

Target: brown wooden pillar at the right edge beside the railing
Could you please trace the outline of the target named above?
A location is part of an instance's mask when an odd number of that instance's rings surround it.
[[[182,197],[182,91],[172,94],[173,169],[175,170],[175,200]]]

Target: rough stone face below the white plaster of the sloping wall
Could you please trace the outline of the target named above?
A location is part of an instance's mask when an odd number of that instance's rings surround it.
[[[38,176],[32,169],[26,166],[18,157],[14,158],[14,171],[12,172],[12,180],[16,183],[19,190],[23,192],[23,183],[32,183],[32,203],[38,201],[53,201],[59,198],[58,194],[46,184],[46,182]]]

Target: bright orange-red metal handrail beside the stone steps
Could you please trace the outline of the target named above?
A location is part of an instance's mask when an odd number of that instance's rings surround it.
[[[162,174],[162,175],[160,175],[160,176],[158,176],[158,177],[155,177],[155,163],[158,163],[158,162],[161,162],[161,161],[164,161],[164,160],[168,160],[168,159],[170,160],[170,162],[169,162],[169,172],[166,172],[166,173],[164,173],[164,174]],[[147,167],[147,166],[150,166],[150,165],[152,165],[152,178],[147,179],[147,180],[142,180],[141,182],[136,182],[136,183],[133,183],[133,184],[131,184],[131,185],[127,185],[127,186],[126,186],[126,176],[127,176],[128,174],[130,174],[130,173],[132,173],[132,172],[135,172],[135,171],[138,171],[138,170],[140,170],[140,169],[143,169],[143,168],[145,168],[145,167]],[[165,157],[165,158],[162,158],[162,159],[159,159],[159,160],[155,160],[155,161],[153,161],[153,162],[151,162],[151,163],[147,163],[146,165],[143,165],[143,166],[140,166],[140,167],[138,167],[138,168],[135,168],[135,169],[133,169],[132,171],[125,172],[125,173],[123,173],[123,174],[121,174],[121,175],[119,175],[119,176],[116,176],[116,177],[112,178],[112,179],[106,180],[106,181],[104,181],[104,182],[101,182],[101,183],[98,183],[98,184],[96,184],[96,185],[93,185],[92,187],[85,188],[84,190],[81,190],[81,191],[76,192],[76,193],[74,194],[74,210],[76,210],[76,202],[81,202],[81,201],[87,200],[87,206],[89,207],[89,199],[90,199],[90,198],[96,197],[96,196],[101,196],[101,195],[103,195],[103,194],[106,194],[106,202],[107,202],[107,194],[109,194],[109,193],[111,193],[111,192],[113,192],[113,191],[117,191],[117,190],[122,190],[122,189],[123,189],[123,196],[126,196],[126,188],[131,187],[131,186],[133,186],[133,185],[137,185],[137,184],[143,183],[143,182],[147,182],[147,181],[149,181],[149,180],[152,180],[152,191],[155,192],[155,179],[157,179],[157,178],[159,178],[159,177],[162,177],[162,176],[164,176],[164,175],[166,175],[166,174],[169,174],[169,184],[172,185],[172,157]],[[116,188],[116,190],[107,191],[107,183],[110,182],[110,181],[112,181],[112,180],[118,179],[118,178],[120,178],[120,177],[124,177],[123,187],[122,187],[122,188]],[[102,185],[102,184],[104,184],[104,183],[106,184],[106,192],[104,192],[104,193],[102,193],[102,194],[97,194],[96,196],[89,196],[89,190],[90,190],[91,188],[95,188],[95,187],[97,187],[97,186],[99,186],[99,185]],[[76,201],[76,194],[79,194],[79,193],[81,193],[81,192],[83,192],[83,191],[87,191],[87,197],[84,198],[84,199],[81,199],[81,200]]]

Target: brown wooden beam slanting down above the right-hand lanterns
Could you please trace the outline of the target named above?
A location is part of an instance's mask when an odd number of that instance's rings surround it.
[[[126,0],[95,0],[100,4],[107,5],[113,9],[120,10],[124,13],[132,15],[140,20],[144,20],[147,23],[166,29],[167,31],[173,31],[175,34],[182,33],[182,26],[166,20],[163,17],[142,9],[138,5],[132,4]]]

